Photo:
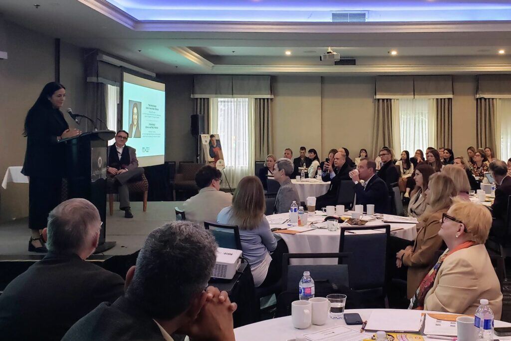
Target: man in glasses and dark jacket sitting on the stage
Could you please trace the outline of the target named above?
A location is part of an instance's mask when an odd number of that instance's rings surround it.
[[[136,150],[126,146],[128,132],[119,130],[115,134],[115,143],[108,148],[107,186],[118,186],[119,209],[124,211],[125,218],[133,218],[129,203],[129,191],[126,184],[130,180],[140,179],[144,168],[138,167]]]

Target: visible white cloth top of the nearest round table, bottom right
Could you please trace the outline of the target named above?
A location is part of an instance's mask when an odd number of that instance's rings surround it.
[[[350,298],[348,298],[350,299]],[[360,314],[362,317],[362,321],[367,321],[371,312],[376,309],[346,309],[344,313],[356,312]],[[382,309],[382,310],[394,310],[394,309]],[[433,312],[433,311],[426,311]],[[446,312],[438,312],[442,314],[449,314]],[[261,341],[261,340],[269,340],[269,341],[291,341],[296,337],[303,338],[304,334],[314,333],[320,330],[333,328],[336,326],[346,326],[343,319],[341,320],[331,320],[328,319],[327,323],[322,326],[311,325],[307,329],[296,329],[293,327],[291,323],[291,316],[279,317],[278,319],[265,320],[258,323],[253,323],[251,325],[246,325],[243,327],[236,328],[234,333],[236,335],[237,341]],[[495,327],[509,327],[511,324],[502,321],[495,321]],[[355,330],[360,330],[360,326],[347,326],[351,327]],[[370,338],[373,333],[361,333],[360,339],[362,338]],[[506,339],[508,336],[500,337]],[[499,336],[495,336],[495,339],[498,339]],[[424,336],[424,340],[426,341],[438,341],[438,339],[428,338]]]

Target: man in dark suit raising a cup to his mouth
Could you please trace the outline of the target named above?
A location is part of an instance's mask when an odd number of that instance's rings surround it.
[[[376,213],[389,212],[388,187],[376,172],[376,163],[373,160],[362,158],[358,169],[351,171],[350,175],[355,183],[357,203],[361,205],[373,204]],[[360,184],[364,180],[364,185]]]

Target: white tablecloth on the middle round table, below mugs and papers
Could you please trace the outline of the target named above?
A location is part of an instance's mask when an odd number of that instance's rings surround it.
[[[286,217],[289,216],[289,213],[281,213],[274,214],[268,216],[269,220],[278,218],[278,217]],[[315,216],[317,219],[326,217],[323,216],[321,211],[316,211]],[[384,215],[385,220],[392,220],[392,217],[395,219],[404,217],[395,217],[391,215]],[[362,218],[363,219],[363,218]],[[287,223],[285,224],[271,224],[270,228],[283,228],[288,227]],[[310,223],[310,222],[309,222]],[[365,226],[371,225],[381,225],[385,224],[379,219],[369,221]],[[346,225],[347,226],[347,225]],[[355,226],[356,227],[356,226]],[[356,232],[357,234],[366,234],[366,233],[382,233],[379,231],[360,231]],[[390,223],[390,235],[396,236],[399,238],[414,240],[417,236],[416,224],[410,223]],[[275,236],[278,236],[286,242],[289,253],[296,254],[304,254],[304,253],[335,253],[339,252],[339,242],[341,239],[341,231],[338,229],[337,231],[328,231],[328,229],[314,229],[312,231],[301,232],[294,235],[284,234],[284,233],[275,233]],[[292,264],[337,264],[337,260],[335,259],[316,259],[314,261],[305,260],[305,259],[293,259]]]

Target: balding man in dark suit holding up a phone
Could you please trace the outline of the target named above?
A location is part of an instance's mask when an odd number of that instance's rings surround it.
[[[329,205],[337,204],[337,196],[339,191],[339,185],[342,180],[350,179],[350,171],[353,169],[346,162],[346,157],[343,153],[337,152],[334,155],[334,167],[330,164],[330,162],[326,163],[327,173],[329,174],[329,178],[324,178],[323,181],[330,181],[330,188],[327,193],[318,196],[316,198],[316,208],[321,210],[323,207],[327,207]]]

